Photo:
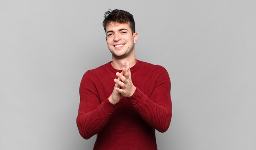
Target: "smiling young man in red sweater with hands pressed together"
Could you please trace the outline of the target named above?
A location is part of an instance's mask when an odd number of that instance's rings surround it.
[[[85,139],[97,134],[94,150],[157,150],[155,129],[171,122],[171,82],[164,67],[135,59],[133,16],[107,11],[103,27],[112,61],[88,70],[80,85],[77,116]]]

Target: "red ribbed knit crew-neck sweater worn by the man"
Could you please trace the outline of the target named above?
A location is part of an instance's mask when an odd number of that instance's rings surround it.
[[[171,82],[164,67],[137,60],[130,68],[135,93],[117,105],[108,101],[116,72],[111,62],[88,70],[80,85],[76,119],[84,139],[97,134],[94,150],[157,150],[155,129],[171,122]]]

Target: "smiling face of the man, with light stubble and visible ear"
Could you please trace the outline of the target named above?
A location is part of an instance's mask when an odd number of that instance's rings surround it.
[[[126,58],[134,52],[138,34],[133,33],[129,23],[110,22],[106,26],[108,49],[117,59]]]

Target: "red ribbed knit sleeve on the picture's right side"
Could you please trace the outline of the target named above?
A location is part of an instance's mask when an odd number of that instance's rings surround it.
[[[164,67],[159,67],[157,72],[159,74],[150,98],[136,88],[135,93],[128,99],[146,123],[159,132],[165,132],[172,116],[171,81]]]

